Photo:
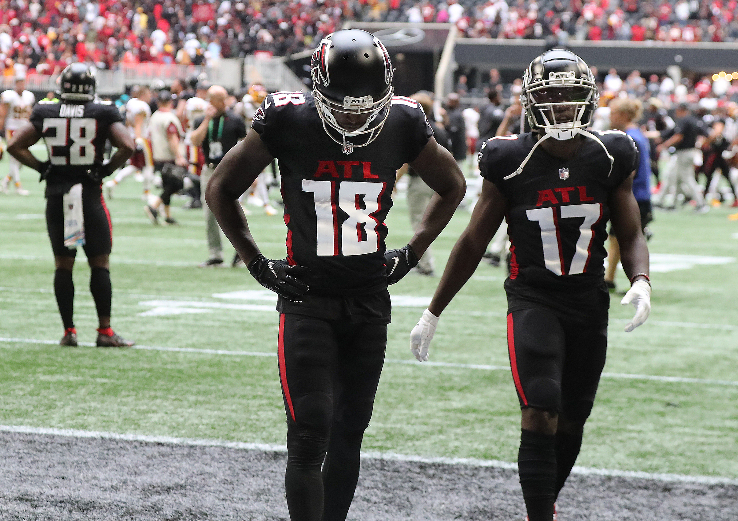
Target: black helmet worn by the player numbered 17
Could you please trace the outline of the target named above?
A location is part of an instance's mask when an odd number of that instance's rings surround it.
[[[525,70],[520,104],[531,130],[571,139],[590,124],[598,100],[592,71],[571,51],[546,51]]]

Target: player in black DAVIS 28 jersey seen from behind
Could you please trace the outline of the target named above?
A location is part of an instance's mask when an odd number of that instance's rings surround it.
[[[72,268],[74,249],[65,245],[64,196],[81,184],[83,248],[90,265],[90,292],[97,308],[97,346],[132,346],[110,327],[112,287],[110,262],[112,224],[103,200],[101,182],[125,164],[136,145],[123,125],[120,112],[111,102],[95,99],[94,74],[84,63],[72,63],[61,74],[59,102],[39,102],[28,125],[15,133],[8,151],[27,167],[41,172],[46,180],[46,227],[56,264],[54,293],[64,324],[62,346],[77,346],[72,320],[75,284]],[[44,138],[49,160],[38,161],[29,147]],[[103,163],[105,144],[110,140],[117,152]],[[68,203],[69,204],[69,203]],[[73,203],[72,203],[73,204]]]

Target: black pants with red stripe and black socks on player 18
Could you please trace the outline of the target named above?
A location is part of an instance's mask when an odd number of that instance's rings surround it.
[[[359,480],[387,324],[282,314],[278,346],[290,519],[344,521]]]

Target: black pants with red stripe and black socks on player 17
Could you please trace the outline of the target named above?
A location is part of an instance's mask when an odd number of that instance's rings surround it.
[[[584,424],[604,368],[607,325],[564,321],[542,309],[514,311],[508,314],[508,352],[521,408]],[[518,472],[530,521],[551,521],[581,446],[582,430],[550,435],[523,429]]]

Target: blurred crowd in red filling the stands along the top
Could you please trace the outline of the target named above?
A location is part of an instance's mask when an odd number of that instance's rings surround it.
[[[736,0],[2,0],[0,74],[72,61],[214,65],[312,49],[344,21],[450,22],[469,38],[735,41]]]

